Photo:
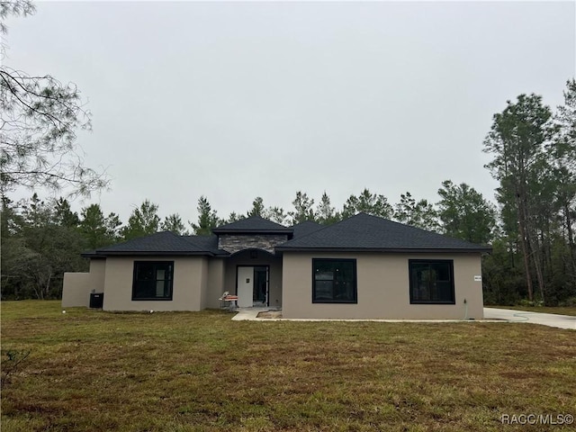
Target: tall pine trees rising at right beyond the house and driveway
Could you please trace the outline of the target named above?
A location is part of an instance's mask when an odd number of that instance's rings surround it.
[[[494,114],[484,151],[500,183],[488,298],[508,301],[512,292],[528,302],[576,302],[576,82],[567,82],[556,112],[536,94],[508,101]]]

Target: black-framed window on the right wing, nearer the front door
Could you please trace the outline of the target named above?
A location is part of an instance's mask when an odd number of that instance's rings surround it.
[[[313,303],[356,303],[356,259],[312,259]]]

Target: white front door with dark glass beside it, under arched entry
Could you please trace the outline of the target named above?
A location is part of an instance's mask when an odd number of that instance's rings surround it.
[[[268,302],[268,266],[238,266],[238,306],[266,306]]]

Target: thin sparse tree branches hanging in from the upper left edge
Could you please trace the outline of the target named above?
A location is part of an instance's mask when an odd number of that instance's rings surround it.
[[[35,11],[29,0],[0,1],[0,32],[8,15]],[[76,130],[91,130],[77,86],[53,76],[29,76],[0,66],[0,193],[18,186],[69,188],[89,194],[109,184],[103,170],[85,166]]]

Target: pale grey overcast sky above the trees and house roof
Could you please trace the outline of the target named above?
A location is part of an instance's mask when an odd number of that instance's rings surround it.
[[[126,221],[148,198],[196,220],[202,194],[220,217],[298,190],[437,202],[446,179],[493,199],[492,115],[563,103],[575,22],[574,2],[40,2],[4,62],[89,100],[78,143],[112,190],[76,210]]]

